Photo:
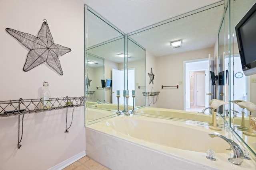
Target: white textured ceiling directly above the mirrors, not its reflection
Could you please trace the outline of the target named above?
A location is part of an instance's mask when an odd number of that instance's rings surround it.
[[[124,33],[220,2],[221,0],[82,0]]]

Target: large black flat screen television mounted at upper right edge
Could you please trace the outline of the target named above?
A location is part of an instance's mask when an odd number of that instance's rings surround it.
[[[244,75],[256,74],[256,3],[235,29]]]

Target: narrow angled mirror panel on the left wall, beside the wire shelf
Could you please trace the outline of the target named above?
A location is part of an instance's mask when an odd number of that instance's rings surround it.
[[[124,59],[117,56],[124,53],[124,34],[96,12],[85,7],[86,23],[86,124],[104,117],[113,116],[117,106],[112,105],[112,69],[124,69]],[[120,90],[124,87],[120,86]],[[109,112],[99,112],[107,109]]]

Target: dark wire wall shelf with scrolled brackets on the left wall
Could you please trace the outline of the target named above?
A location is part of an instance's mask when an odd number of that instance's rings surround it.
[[[21,140],[23,137],[23,121],[24,115],[28,113],[39,113],[43,111],[57,110],[57,109],[65,109],[66,108],[66,130],[64,133],[68,133],[68,129],[72,125],[73,114],[75,107],[84,106],[85,98],[82,97],[64,97],[64,98],[50,98],[47,101],[43,101],[42,99],[22,99],[19,100],[8,100],[8,101],[0,101],[0,117],[9,117],[18,115],[18,149],[20,149]],[[68,108],[73,107],[72,111],[72,120],[68,127]],[[42,109],[43,108],[43,109]],[[22,125],[20,127],[20,116],[22,116]],[[21,135],[20,135],[21,128]]]

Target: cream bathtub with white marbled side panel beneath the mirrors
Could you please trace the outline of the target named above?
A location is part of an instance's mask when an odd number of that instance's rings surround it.
[[[228,162],[228,143],[202,125],[140,115],[118,116],[86,127],[86,154],[112,170],[243,169],[256,167],[255,160],[237,166]],[[233,138],[229,130],[218,132]],[[235,139],[232,139],[235,141]],[[216,161],[206,150],[216,152]]]

